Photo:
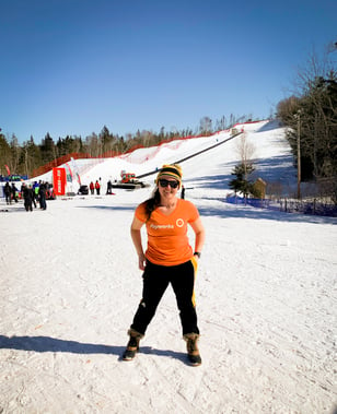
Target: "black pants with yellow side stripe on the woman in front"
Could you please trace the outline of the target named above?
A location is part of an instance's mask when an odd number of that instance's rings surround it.
[[[195,272],[196,269],[191,260],[172,267],[153,264],[148,261],[143,273],[142,299],[131,328],[139,333],[146,333],[148,324],[171,283],[179,309],[183,335],[186,333],[199,333],[194,299]]]

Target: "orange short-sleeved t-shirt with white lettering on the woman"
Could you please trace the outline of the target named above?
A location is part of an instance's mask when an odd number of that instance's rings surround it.
[[[154,264],[176,265],[193,257],[193,248],[187,237],[187,224],[199,217],[197,208],[188,200],[178,199],[175,210],[163,214],[155,209],[149,221],[146,202],[138,205],[136,217],[146,223],[148,230],[147,259]]]

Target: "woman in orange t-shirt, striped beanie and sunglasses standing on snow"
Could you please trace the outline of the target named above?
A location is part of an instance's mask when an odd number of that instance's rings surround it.
[[[177,198],[182,186],[178,165],[164,165],[155,179],[153,197],[136,209],[131,224],[131,238],[143,271],[142,299],[128,331],[130,340],[123,355],[130,360],[139,350],[148,324],[168,284],[172,284],[187,342],[187,355],[191,365],[200,365],[197,346],[199,329],[195,308],[194,283],[198,260],[205,241],[205,229],[197,208]],[[195,232],[195,250],[189,245],[187,224]],[[148,248],[142,248],[141,227],[148,232]]]

